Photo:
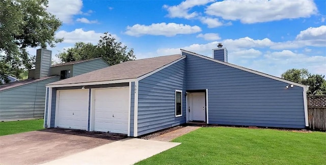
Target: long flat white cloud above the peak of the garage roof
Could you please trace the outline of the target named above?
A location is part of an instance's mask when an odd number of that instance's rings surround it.
[[[167,37],[172,37],[177,34],[193,34],[201,32],[199,26],[191,26],[187,24],[177,24],[177,23],[152,23],[151,25],[135,24],[133,26],[127,26],[127,31],[125,32],[129,36],[142,36],[142,35],[162,35]]]

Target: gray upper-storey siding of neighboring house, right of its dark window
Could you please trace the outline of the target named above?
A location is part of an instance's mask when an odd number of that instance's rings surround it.
[[[108,65],[102,59],[91,60],[73,65],[73,76],[88,73],[94,70],[106,68]]]

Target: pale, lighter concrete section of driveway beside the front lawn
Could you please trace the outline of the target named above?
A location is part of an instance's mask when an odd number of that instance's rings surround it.
[[[133,164],[179,144],[127,138],[44,164]]]

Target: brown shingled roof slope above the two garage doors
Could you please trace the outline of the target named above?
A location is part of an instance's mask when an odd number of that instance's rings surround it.
[[[149,59],[127,61],[103,69],[95,70],[71,78],[52,82],[48,85],[77,84],[83,82],[111,81],[120,79],[138,78],[156,69],[164,67],[184,56],[175,54],[171,56],[161,56]]]

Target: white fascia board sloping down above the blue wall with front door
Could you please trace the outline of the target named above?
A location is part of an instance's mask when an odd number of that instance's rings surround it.
[[[209,57],[206,57],[206,56],[203,56],[203,55],[200,55],[200,54],[196,54],[196,53],[191,52],[191,51],[186,51],[186,50],[182,50],[181,49],[181,54],[182,54],[182,52],[185,52],[185,53],[188,53],[188,54],[192,54],[194,56],[197,56],[197,57],[200,57],[200,58],[203,58],[203,59],[206,59],[206,60],[210,60],[210,61],[213,61],[213,62],[216,62],[216,63],[219,63],[219,64],[223,64],[223,65],[226,65],[226,66],[229,66],[229,67],[233,67],[233,68],[236,68],[236,69],[240,69],[240,70],[247,71],[247,72],[250,72],[250,73],[254,73],[254,74],[257,74],[257,75],[261,75],[261,76],[264,76],[264,77],[267,77],[267,78],[271,78],[271,79],[275,79],[275,80],[278,80],[278,81],[286,82],[287,84],[292,84],[292,85],[295,85],[295,86],[298,86],[298,87],[302,87],[302,88],[305,88],[306,87],[305,85],[298,84],[296,82],[291,82],[291,81],[288,81],[288,80],[285,80],[285,79],[282,79],[282,78],[279,78],[279,77],[268,75],[266,73],[261,73],[261,72],[258,72],[258,71],[255,71],[255,70],[251,70],[251,69],[248,69],[248,68],[243,68],[243,67],[240,67],[240,66],[237,66],[237,65],[234,65],[234,64],[230,64],[230,63],[225,63],[225,62],[222,62],[222,61],[214,60],[214,59],[211,59]]]

